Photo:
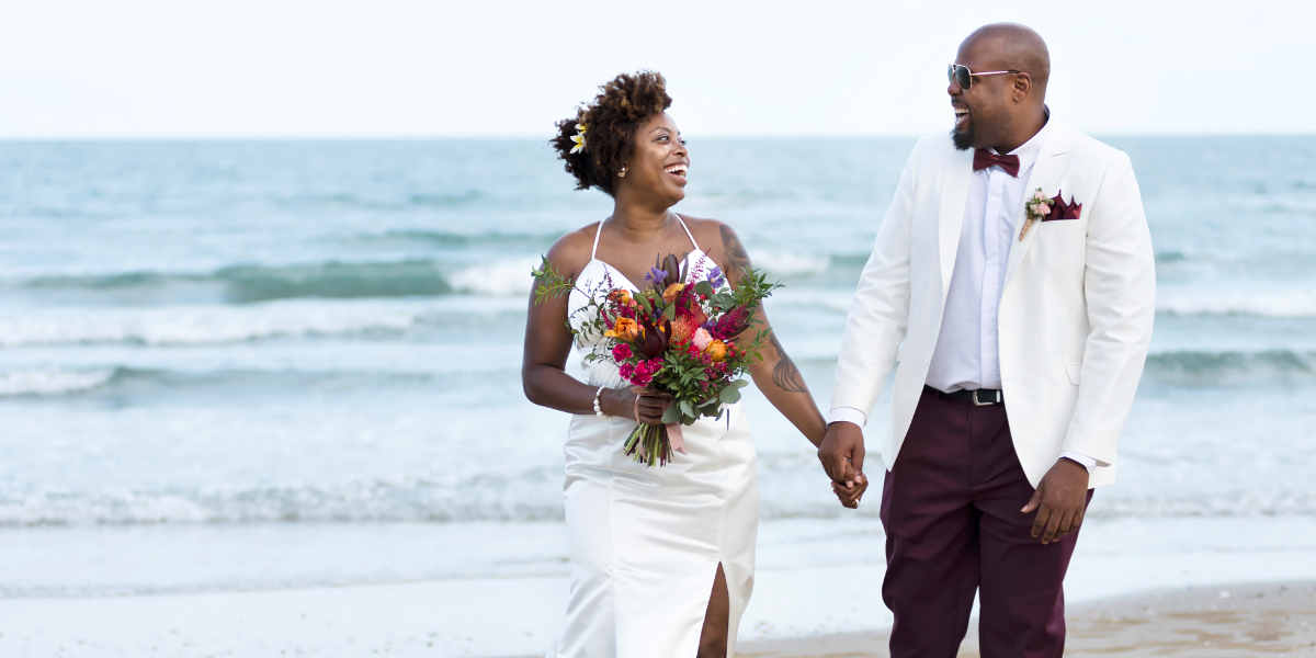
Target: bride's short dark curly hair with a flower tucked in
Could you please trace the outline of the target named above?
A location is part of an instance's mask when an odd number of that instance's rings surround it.
[[[621,74],[599,86],[594,103],[578,109],[575,117],[558,121],[558,134],[549,143],[566,162],[567,174],[575,176],[576,190],[597,187],[613,196],[616,172],[630,155],[636,128],[671,107],[666,86],[654,71]],[[576,124],[586,126],[586,146],[572,154]]]

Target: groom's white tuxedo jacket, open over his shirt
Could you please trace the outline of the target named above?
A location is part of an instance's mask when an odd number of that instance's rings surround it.
[[[950,137],[915,146],[846,320],[833,409],[871,416],[899,363],[892,432],[867,440],[887,468],[904,441],[919,440],[905,434],[941,330],[971,175],[973,150],[957,151]],[[1062,450],[1098,461],[1090,479],[1098,487],[1115,480],[1152,340],[1152,237],[1128,155],[1096,139],[1053,122],[1025,197],[1038,187],[1083,208],[1078,220],[1033,222],[1020,241],[1020,203],[998,311],[1005,411],[1034,487]]]

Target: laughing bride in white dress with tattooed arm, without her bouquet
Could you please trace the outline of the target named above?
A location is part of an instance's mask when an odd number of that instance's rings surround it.
[[[525,326],[526,397],[574,415],[563,490],[571,595],[549,658],[734,655],[754,586],[758,476],[741,404],[728,408],[729,418],[684,428],[688,454],[646,467],[621,446],[637,421],[661,422],[666,400],[637,397],[607,361],[582,359],[586,383],[565,371],[572,345],[567,322],[579,328],[586,320],[580,291],[604,278],[634,287],[666,254],[684,254],[690,265],[708,258],[733,286],[750,265],[730,226],[671,212],[686,196],[690,154],[666,113],[670,105],[662,75],[622,74],[559,122],[553,139],[576,188],[596,187],[615,203],[611,216],[549,249],[549,265],[575,279],[576,290],[540,304],[532,296]],[[759,320],[767,328],[762,312]],[[576,347],[587,355],[599,341],[579,340]],[[750,375],[815,446],[822,441],[822,416],[775,336]],[[861,494],[862,487],[837,491],[846,507]]]

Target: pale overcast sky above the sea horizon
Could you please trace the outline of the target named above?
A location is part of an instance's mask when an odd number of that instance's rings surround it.
[[[1309,0],[613,5],[12,0],[0,137],[546,137],[637,68],[687,136],[923,134],[950,128],[959,41],[1001,20],[1048,41],[1073,128],[1316,132]]]

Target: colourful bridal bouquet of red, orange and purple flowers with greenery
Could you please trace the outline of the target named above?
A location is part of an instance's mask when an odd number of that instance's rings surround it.
[[[611,276],[596,290],[580,291],[590,301],[579,312],[587,315],[571,333],[597,337],[603,347],[586,359],[605,359],[632,386],[671,399],[663,425],[640,424],[626,437],[624,449],[636,462],[663,466],[672,450],[686,454],[680,428],[701,416],[721,418],[724,407],[740,400],[747,384],[741,375],[755,359],[763,361],[759,349],[767,330],[751,338],[742,334],[758,324],[754,311],[780,284],[746,268],[732,290],[721,270],[708,265],[707,257],[690,266],[669,254],[645,275],[640,291],[616,287]],[[532,274],[538,280],[536,304],[578,290],[547,259]]]

